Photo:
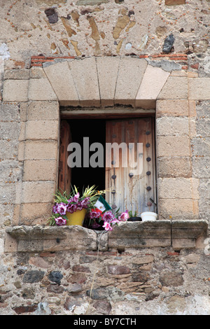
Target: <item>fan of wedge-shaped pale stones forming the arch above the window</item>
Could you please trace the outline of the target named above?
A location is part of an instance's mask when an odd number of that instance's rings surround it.
[[[170,73],[148,65],[137,57],[88,57],[72,59],[44,67],[45,79],[32,79],[31,94],[45,85],[45,97],[57,97],[61,106],[106,107],[127,105],[155,109],[155,102]],[[41,80],[41,81],[39,81]],[[51,92],[49,90],[51,86]]]

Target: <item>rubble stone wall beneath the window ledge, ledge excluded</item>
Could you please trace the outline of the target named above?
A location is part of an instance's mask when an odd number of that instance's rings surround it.
[[[3,264],[0,314],[209,315],[203,253],[171,248],[100,252],[98,258],[97,251],[18,253],[4,256]]]

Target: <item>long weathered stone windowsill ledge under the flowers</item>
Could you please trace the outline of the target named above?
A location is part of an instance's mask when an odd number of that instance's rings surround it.
[[[111,232],[80,226],[21,225],[6,229],[5,251],[97,251],[98,246],[100,251],[167,246],[202,248],[207,232],[207,221],[126,222]]]

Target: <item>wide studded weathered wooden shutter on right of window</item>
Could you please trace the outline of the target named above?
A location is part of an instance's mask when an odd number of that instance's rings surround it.
[[[156,211],[155,141],[153,118],[106,121],[106,146],[113,143],[127,146],[116,154],[106,152],[106,201],[120,211]],[[139,145],[138,145],[139,144]],[[137,148],[139,146],[139,148]],[[130,166],[130,155],[139,158],[136,168]],[[108,164],[110,164],[108,166]],[[153,202],[151,202],[153,200]]]

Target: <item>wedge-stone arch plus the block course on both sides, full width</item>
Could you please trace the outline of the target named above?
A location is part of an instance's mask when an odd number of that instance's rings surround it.
[[[31,68],[28,77],[21,70],[18,78],[5,77],[2,101],[155,109],[159,99],[209,99],[209,78],[195,78],[184,71],[174,75],[138,57],[62,59],[37,69],[36,74]]]

